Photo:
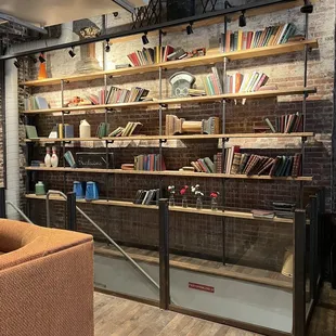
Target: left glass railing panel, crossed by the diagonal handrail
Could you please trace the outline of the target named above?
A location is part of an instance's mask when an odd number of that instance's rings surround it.
[[[155,189],[158,179],[144,181],[137,176],[111,176],[109,195],[124,205],[131,205],[137,191],[146,186]],[[144,184],[146,183],[146,184]],[[153,206],[152,206],[153,207]],[[104,228],[118,242],[125,253],[153,280],[159,283],[158,211],[157,209],[126,206],[104,206]],[[101,214],[96,214],[101,216]],[[106,240],[104,240],[106,242]],[[130,295],[138,298],[159,300],[158,287],[112,244],[95,243],[94,285],[98,288]]]

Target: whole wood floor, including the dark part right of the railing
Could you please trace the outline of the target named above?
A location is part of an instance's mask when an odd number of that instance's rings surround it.
[[[95,336],[257,336],[156,307],[94,294]],[[323,286],[312,318],[309,336],[336,335],[336,290]]]

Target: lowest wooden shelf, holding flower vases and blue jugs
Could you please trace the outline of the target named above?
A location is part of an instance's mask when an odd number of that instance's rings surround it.
[[[26,194],[26,198],[29,199],[46,199],[46,196],[37,196],[35,194]],[[50,195],[50,199],[52,201],[64,201],[63,197],[59,195]],[[156,205],[142,205],[142,204],[133,204],[131,202],[126,201],[106,201],[106,199],[98,199],[98,201],[85,201],[77,199],[77,203],[85,204],[98,204],[104,206],[117,206],[117,207],[128,207],[128,208],[141,208],[141,209],[150,209],[150,210],[158,210],[158,206]],[[286,223],[293,224],[293,219],[288,218],[277,218],[274,217],[272,219],[269,218],[255,218],[251,212],[243,212],[243,211],[232,211],[232,210],[211,210],[211,209],[202,209],[197,210],[196,208],[183,208],[181,206],[175,206],[169,208],[170,211],[173,212],[185,212],[185,214],[196,214],[196,215],[207,215],[207,216],[217,216],[217,217],[230,217],[230,218],[241,218],[241,219],[249,219],[249,220],[262,220],[268,222],[276,222],[276,223]]]

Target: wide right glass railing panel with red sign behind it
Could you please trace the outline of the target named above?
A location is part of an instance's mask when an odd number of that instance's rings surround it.
[[[215,182],[203,182],[204,189],[216,190]],[[234,189],[237,192],[238,188],[246,189],[245,192],[251,190],[261,195],[258,202],[263,202],[262,208],[271,208],[269,203],[274,199],[267,194],[262,199],[261,189],[267,188],[266,183],[240,183],[227,181],[228,193]],[[244,183],[249,185],[244,186]],[[180,198],[176,207],[180,205]],[[238,202],[237,198],[229,201],[228,196],[228,207]],[[257,201],[251,198],[248,206],[255,207],[255,203]],[[199,214],[195,207],[196,199],[190,197],[191,214],[181,214],[173,208],[170,211],[172,301],[189,310],[290,333],[292,220],[256,219],[250,209],[230,207],[236,218],[222,221],[223,217],[205,215],[210,207],[209,197],[204,198]]]

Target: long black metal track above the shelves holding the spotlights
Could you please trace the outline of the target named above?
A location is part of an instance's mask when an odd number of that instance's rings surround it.
[[[11,55],[0,56],[0,60],[10,60],[10,59],[26,56],[26,55],[39,53],[39,52],[48,52],[48,51],[60,50],[60,49],[68,49],[72,47],[100,42],[100,41],[103,41],[106,39],[127,37],[127,36],[135,35],[135,34],[144,34],[145,31],[155,31],[155,30],[160,30],[160,29],[165,29],[168,27],[180,26],[183,24],[188,25],[188,24],[190,24],[191,21],[193,23],[195,23],[198,21],[204,21],[204,20],[217,17],[217,16],[233,14],[236,12],[249,11],[249,10],[254,10],[254,9],[258,9],[258,8],[262,8],[262,7],[272,5],[272,4],[294,2],[294,1],[296,1],[296,0],[260,0],[260,1],[248,3],[248,4],[243,4],[243,5],[238,5],[238,7],[234,7],[234,8],[227,8],[227,9],[220,10],[220,11],[216,11],[216,12],[205,13],[202,15],[194,15],[194,16],[190,16],[190,17],[183,17],[183,18],[179,18],[179,20],[169,21],[166,23],[159,23],[159,24],[156,24],[156,25],[153,25],[150,27],[141,27],[138,29],[130,29],[127,31],[119,31],[119,33],[115,33],[115,34],[101,35],[101,36],[90,38],[90,39],[81,39],[78,41],[66,42],[66,43],[62,43],[62,44],[43,47],[43,48],[27,50],[27,51],[23,51],[23,52],[17,52],[17,53],[14,53]]]

